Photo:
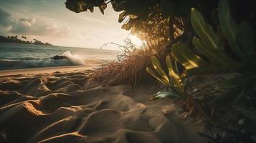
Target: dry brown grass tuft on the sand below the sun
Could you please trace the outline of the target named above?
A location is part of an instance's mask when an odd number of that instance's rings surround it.
[[[152,49],[143,44],[143,47],[136,47],[131,40],[127,39],[122,55],[116,61],[107,61],[90,74],[89,80],[98,82],[105,86],[117,84],[129,84],[136,86],[151,80],[146,73],[146,67],[151,65],[151,56],[156,55],[160,49]]]

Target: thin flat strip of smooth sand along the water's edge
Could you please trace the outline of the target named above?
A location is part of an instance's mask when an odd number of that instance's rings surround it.
[[[0,70],[1,76],[11,76],[17,74],[47,74],[53,72],[63,72],[63,71],[79,71],[86,69],[93,69],[100,64],[87,64],[82,66],[50,66],[50,67],[40,67],[40,68],[28,68],[28,69],[6,69]]]

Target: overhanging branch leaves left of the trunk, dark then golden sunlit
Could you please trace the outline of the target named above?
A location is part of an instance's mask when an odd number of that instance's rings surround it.
[[[87,10],[93,12],[94,7],[98,7],[104,14],[108,3],[112,4],[115,11],[122,11],[118,18],[123,23],[122,29],[131,30],[131,34],[158,47],[170,42],[169,17],[175,17],[173,4],[183,5],[181,1],[168,0],[67,0],[66,6],[77,13]],[[178,36],[184,28],[182,20],[174,18],[173,21],[175,29],[171,35]]]

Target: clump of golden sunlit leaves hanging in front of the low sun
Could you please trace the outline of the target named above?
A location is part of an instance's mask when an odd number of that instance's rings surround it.
[[[131,30],[131,34],[138,36],[153,47],[164,47],[169,44],[169,19],[161,16],[159,6],[153,7],[150,11],[148,19],[128,19],[122,29]]]

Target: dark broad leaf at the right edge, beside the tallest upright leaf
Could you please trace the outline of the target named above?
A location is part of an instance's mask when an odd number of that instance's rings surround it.
[[[255,52],[253,29],[247,21],[243,21],[238,29],[236,36],[237,44],[241,51],[247,56],[247,61],[253,61],[253,54]]]

